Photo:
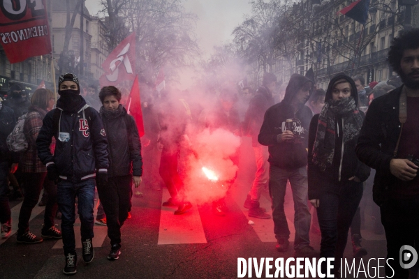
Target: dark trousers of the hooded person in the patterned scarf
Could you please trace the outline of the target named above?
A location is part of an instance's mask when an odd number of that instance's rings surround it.
[[[320,257],[335,257],[336,262],[344,255],[348,230],[362,198],[362,183],[348,181],[335,187],[339,193],[321,193],[317,209],[321,230]],[[322,266],[323,269],[323,266]]]

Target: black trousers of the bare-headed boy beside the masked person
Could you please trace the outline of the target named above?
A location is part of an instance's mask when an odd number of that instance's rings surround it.
[[[121,227],[131,211],[132,176],[114,176],[105,185],[97,184],[108,225],[110,245],[121,243]]]

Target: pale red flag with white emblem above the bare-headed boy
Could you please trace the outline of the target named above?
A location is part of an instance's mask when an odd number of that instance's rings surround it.
[[[105,73],[99,79],[101,87],[117,86],[135,78],[135,33],[124,38],[103,62]]]

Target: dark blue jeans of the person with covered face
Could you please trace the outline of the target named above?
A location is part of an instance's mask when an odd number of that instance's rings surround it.
[[[61,234],[63,235],[64,255],[75,251],[75,197],[78,197],[78,213],[82,223],[80,232],[82,240],[94,237],[94,187],[95,180],[87,179],[79,183],[61,180],[57,186],[57,203],[61,217]]]

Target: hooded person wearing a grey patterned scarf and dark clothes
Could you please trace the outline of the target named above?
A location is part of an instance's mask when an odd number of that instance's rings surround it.
[[[355,154],[364,119],[357,106],[355,82],[338,74],[330,81],[325,105],[309,128],[309,200],[317,209],[320,256],[335,257],[335,263],[344,255],[348,230],[362,198],[362,182],[369,176],[369,167]]]

